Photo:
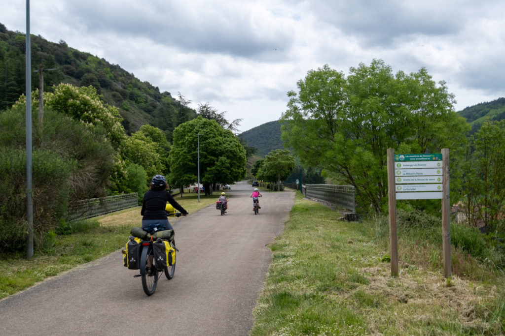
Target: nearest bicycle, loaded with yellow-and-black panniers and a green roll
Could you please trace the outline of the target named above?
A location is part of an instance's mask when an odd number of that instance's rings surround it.
[[[169,214],[169,216],[179,217],[181,214]],[[178,249],[175,247],[174,231],[153,230],[147,232],[141,228],[132,228],[130,233],[132,236],[130,236],[126,249],[123,250],[124,265],[131,270],[140,271],[140,274],[133,277],[141,277],[145,294],[153,295],[162,273],[165,273],[168,280],[172,279],[175,274],[175,253]],[[128,251],[129,248],[130,251]],[[166,250],[166,259],[164,259],[164,253],[158,253],[158,260],[156,260],[155,249],[156,251]]]

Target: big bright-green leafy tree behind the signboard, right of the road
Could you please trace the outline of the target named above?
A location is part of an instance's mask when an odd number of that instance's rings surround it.
[[[288,92],[282,139],[302,165],[356,187],[357,203],[381,212],[387,201],[387,149],[436,153],[465,144],[468,124],[453,110],[453,95],[426,69],[392,74],[374,59],[349,75],[324,65]],[[461,154],[451,153],[451,160]]]

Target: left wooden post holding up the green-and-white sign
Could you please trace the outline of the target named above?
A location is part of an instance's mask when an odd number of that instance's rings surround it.
[[[398,241],[396,234],[396,189],[394,183],[394,149],[387,150],[387,192],[389,203],[389,252],[391,276],[398,276]]]

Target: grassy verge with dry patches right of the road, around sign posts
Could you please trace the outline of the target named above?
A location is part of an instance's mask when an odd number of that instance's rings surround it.
[[[270,246],[251,335],[505,332],[505,280],[493,262],[453,247],[453,276],[445,279],[441,226],[404,219],[400,275],[393,278],[387,217],[339,217],[297,193],[284,232]]]

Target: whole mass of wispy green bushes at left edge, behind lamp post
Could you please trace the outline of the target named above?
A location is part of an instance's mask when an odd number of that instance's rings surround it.
[[[18,102],[0,113],[0,252],[20,251],[26,244],[24,109]],[[32,144],[34,243],[46,248],[51,243],[43,244],[44,239],[51,240],[48,232],[65,219],[69,204],[106,195],[115,153],[103,133],[51,109],[44,113],[43,129],[33,123]]]

